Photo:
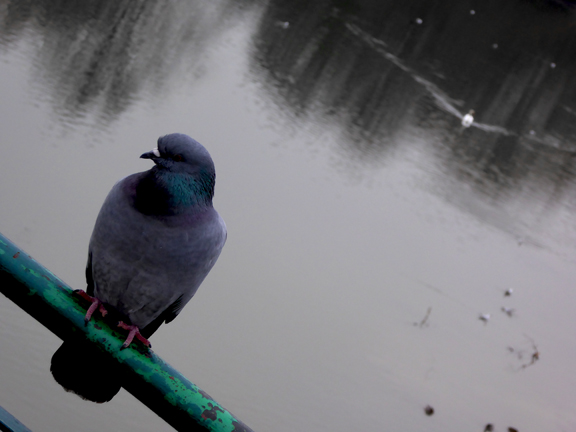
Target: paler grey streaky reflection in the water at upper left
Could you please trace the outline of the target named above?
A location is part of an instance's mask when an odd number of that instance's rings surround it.
[[[59,119],[93,113],[105,126],[143,92],[161,94],[171,78],[202,73],[202,56],[234,2],[19,1],[0,15],[0,43],[30,33],[36,79],[52,93]]]

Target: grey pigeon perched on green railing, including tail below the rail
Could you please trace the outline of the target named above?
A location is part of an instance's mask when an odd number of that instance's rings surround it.
[[[86,293],[99,311],[118,316],[128,330],[123,348],[149,338],[194,296],[226,242],[226,225],[212,206],[216,173],[208,151],[184,134],[158,139],[140,156],[154,166],[118,181],[92,232]],[[111,400],[121,387],[117,362],[82,336],[64,341],[51,371],[67,391],[93,402]]]

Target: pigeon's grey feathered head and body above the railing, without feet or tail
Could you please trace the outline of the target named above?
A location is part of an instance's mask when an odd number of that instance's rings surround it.
[[[160,138],[158,151],[159,158],[143,155],[154,168],[120,180],[108,194],[86,269],[88,294],[140,329],[162,314],[166,322],[178,315],[226,241],[224,221],[212,207],[208,152],[180,134]],[[182,161],[174,161],[177,155]]]

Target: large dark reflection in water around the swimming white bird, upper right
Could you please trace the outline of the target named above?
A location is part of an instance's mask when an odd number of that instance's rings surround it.
[[[339,123],[353,157],[424,141],[444,193],[464,183],[493,205],[572,202],[572,15],[520,0],[384,3],[270,2],[255,73],[295,118]]]

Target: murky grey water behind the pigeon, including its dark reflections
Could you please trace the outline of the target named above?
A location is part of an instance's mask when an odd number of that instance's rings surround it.
[[[82,288],[110,187],[188,133],[229,238],[152,342],[254,430],[572,431],[576,18],[384,3],[4,3],[0,231]],[[0,297],[29,428],[170,430],[65,393],[58,346]]]

